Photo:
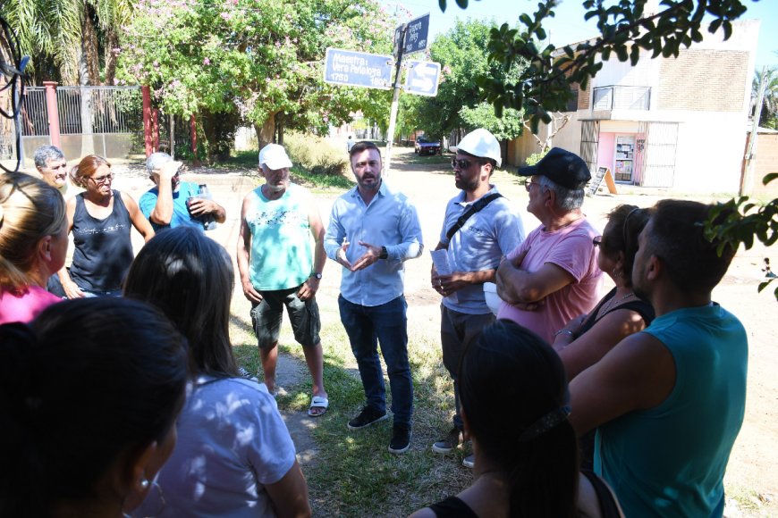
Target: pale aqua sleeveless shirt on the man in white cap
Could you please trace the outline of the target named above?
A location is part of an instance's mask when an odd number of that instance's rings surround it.
[[[251,231],[251,284],[258,291],[300,286],[313,268],[308,189],[291,183],[277,200],[268,200],[262,188],[251,195],[245,215]]]

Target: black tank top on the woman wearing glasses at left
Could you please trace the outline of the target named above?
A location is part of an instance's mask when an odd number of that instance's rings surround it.
[[[83,193],[76,196],[73,214],[73,263],[70,274],[81,289],[113,291],[121,289],[132,263],[130,213],[122,195],[114,190],[114,210],[105,220],[92,217]]]

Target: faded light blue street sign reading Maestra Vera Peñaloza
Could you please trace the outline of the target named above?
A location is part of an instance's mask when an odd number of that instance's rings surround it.
[[[392,88],[392,65],[391,55],[328,48],[325,60],[325,82],[388,90]]]

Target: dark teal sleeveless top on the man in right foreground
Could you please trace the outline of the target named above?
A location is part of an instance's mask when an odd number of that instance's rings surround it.
[[[664,314],[642,332],[670,350],[675,387],[662,405],[597,430],[595,471],[626,516],[721,516],[746,407],[746,330],[713,304]]]

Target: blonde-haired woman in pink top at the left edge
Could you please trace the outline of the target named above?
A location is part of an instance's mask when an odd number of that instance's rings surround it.
[[[46,290],[68,247],[62,195],[21,172],[0,174],[0,324],[30,322],[62,299]]]

